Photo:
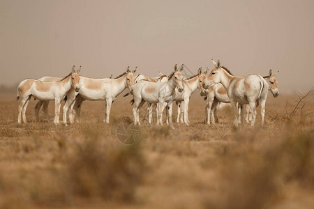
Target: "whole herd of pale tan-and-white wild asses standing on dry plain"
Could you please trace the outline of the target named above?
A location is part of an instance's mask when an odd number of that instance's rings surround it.
[[[84,100],[105,100],[106,110],[104,121],[109,123],[110,109],[112,102],[117,96],[129,88],[133,95],[132,103],[134,124],[140,125],[139,109],[144,102],[149,105],[149,123],[152,121],[153,107],[156,106],[157,124],[163,124],[163,110],[166,108],[166,121],[170,127],[172,124],[172,104],[178,104],[177,123],[188,125],[188,103],[190,95],[198,88],[202,96],[208,99],[206,106],[206,122],[208,124],[218,121],[217,107],[220,102],[230,103],[234,110],[234,125],[246,122],[253,126],[256,118],[255,108],[260,105],[262,124],[264,123],[265,103],[267,93],[271,91],[274,97],[279,95],[276,75],[260,76],[257,74],[239,77],[232,75],[232,72],[211,59],[214,69],[202,72],[199,68],[196,75],[185,78],[182,75],[184,65],[180,68],[174,65],[174,70],[167,75],[158,77],[147,77],[146,75],[134,75],[135,70],[126,69],[118,77],[112,79],[95,79],[80,76],[81,67],[76,71],[73,66],[72,71],[63,78],[45,76],[40,79],[24,79],[17,87],[17,100],[21,100],[18,107],[18,123],[27,123],[25,111],[31,97],[38,100],[35,107],[36,119],[38,111],[43,105],[43,111],[47,114],[47,107],[50,100],[54,100],[54,124],[59,125],[59,113],[61,101],[66,100],[63,105],[63,123],[67,125],[67,112],[69,109],[70,123],[80,120],[80,109]],[[126,95],[128,95],[126,94]],[[246,105],[247,104],[247,105]],[[246,108],[244,107],[246,105]],[[246,112],[246,116],[244,116]],[[240,121],[241,119],[241,121]]]

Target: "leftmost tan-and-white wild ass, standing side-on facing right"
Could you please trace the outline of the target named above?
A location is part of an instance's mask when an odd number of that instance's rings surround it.
[[[17,87],[17,100],[21,98],[18,107],[19,114],[17,122],[21,123],[21,115],[23,122],[27,123],[25,111],[31,96],[37,100],[54,100],[54,124],[59,125],[60,103],[66,97],[71,87],[78,91],[80,89],[80,76],[72,68],[72,72],[58,82],[40,82],[36,79],[25,79],[20,82]]]

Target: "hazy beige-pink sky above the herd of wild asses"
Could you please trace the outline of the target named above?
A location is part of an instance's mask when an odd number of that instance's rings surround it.
[[[45,75],[280,70],[281,92],[314,86],[314,1],[0,0],[0,84]]]

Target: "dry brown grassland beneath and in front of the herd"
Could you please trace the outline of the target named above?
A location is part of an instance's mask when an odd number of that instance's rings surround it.
[[[229,106],[220,123],[205,125],[206,102],[195,92],[189,126],[141,118],[133,145],[116,134],[133,120],[130,97],[114,101],[109,125],[104,102],[83,102],[81,123],[67,127],[53,124],[53,102],[50,118],[40,111],[36,122],[33,100],[29,123],[17,125],[15,97],[0,100],[0,208],[314,207],[313,95],[302,117],[300,109],[290,117],[292,95],[269,93],[264,127],[258,111],[255,127],[235,129]]]

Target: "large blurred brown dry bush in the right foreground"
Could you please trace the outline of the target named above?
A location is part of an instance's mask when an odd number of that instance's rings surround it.
[[[218,153],[218,194],[207,197],[206,208],[269,208],[285,184],[314,188],[313,130],[273,141],[243,131],[235,140]]]

